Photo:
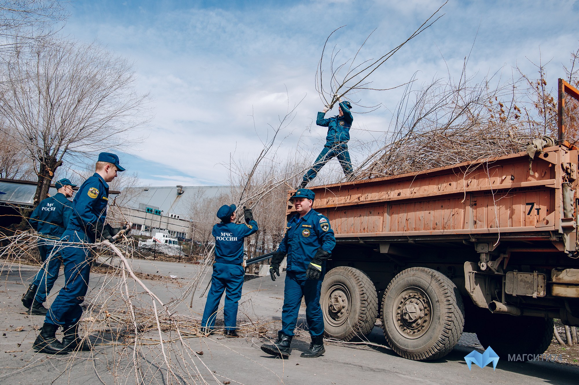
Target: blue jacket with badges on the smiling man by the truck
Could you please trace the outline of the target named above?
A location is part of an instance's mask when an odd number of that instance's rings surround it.
[[[301,219],[299,214],[290,219],[277,251],[287,254],[287,271],[303,273],[320,247],[331,253],[334,246],[336,238],[328,219],[312,209]]]

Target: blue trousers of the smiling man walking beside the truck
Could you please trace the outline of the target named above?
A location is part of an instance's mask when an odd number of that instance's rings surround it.
[[[287,272],[285,276],[284,306],[281,311],[281,332],[285,335],[294,335],[295,325],[298,322],[299,306],[302,297],[306,302],[306,321],[310,335],[317,336],[324,332],[324,315],[320,307],[320,279],[307,279],[306,273]]]

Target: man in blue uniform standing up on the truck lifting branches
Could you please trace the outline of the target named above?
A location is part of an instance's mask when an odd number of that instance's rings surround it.
[[[349,101],[342,102],[340,99],[338,115],[324,119],[325,113],[329,110],[328,107],[318,112],[316,124],[328,127],[328,135],[326,136],[324,148],[316,158],[312,168],[303,176],[302,184],[299,188],[306,187],[307,183],[318,175],[320,169],[334,157],[338,158],[338,162],[342,165],[344,175],[350,176],[353,172],[350,153],[348,152],[350,127],[352,127],[352,122],[354,121],[354,117],[350,112],[351,108],[352,105]]]

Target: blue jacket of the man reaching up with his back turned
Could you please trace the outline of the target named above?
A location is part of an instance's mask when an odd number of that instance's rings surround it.
[[[218,223],[211,234],[215,237],[215,262],[241,265],[243,263],[243,239],[257,231],[257,222]]]

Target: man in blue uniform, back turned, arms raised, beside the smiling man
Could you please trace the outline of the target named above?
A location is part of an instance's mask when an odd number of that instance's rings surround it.
[[[245,223],[234,223],[236,206],[223,205],[217,211],[221,223],[213,226],[211,234],[215,237],[215,263],[211,275],[211,288],[203,310],[201,328],[210,334],[215,327],[219,301],[225,291],[223,319],[225,335],[237,337],[237,305],[241,298],[241,287],[245,269],[243,266],[243,243],[246,236],[258,230],[251,209],[243,208]]]

